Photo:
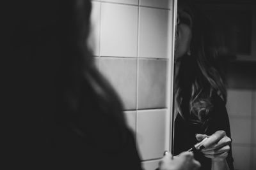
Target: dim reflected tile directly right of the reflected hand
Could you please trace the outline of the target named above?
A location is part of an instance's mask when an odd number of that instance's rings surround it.
[[[230,118],[230,131],[233,143],[251,143],[251,120]]]

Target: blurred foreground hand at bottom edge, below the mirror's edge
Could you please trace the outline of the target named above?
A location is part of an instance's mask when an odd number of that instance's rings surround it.
[[[159,162],[159,170],[196,170],[200,163],[194,159],[192,152],[182,152],[179,157],[173,157],[167,153]]]

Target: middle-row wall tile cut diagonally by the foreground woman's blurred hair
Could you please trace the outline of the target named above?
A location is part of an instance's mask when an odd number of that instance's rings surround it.
[[[136,59],[100,57],[100,71],[121,97],[125,110],[136,109]]]

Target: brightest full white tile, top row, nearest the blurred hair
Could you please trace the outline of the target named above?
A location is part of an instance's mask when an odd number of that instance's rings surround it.
[[[138,6],[102,3],[100,55],[136,57]]]

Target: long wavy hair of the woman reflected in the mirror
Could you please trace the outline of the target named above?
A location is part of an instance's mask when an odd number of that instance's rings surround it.
[[[191,52],[180,60],[175,96],[182,117],[204,126],[209,111],[214,107],[212,96],[218,94],[226,102],[227,91],[216,69],[218,52],[213,27],[191,2],[185,5],[193,20]]]

